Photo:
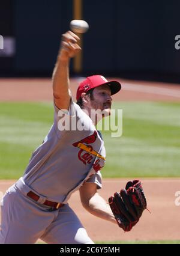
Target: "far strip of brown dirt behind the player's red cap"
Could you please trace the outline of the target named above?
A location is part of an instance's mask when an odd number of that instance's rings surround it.
[[[83,78],[71,79],[73,99]],[[111,80],[113,80],[111,78]],[[137,82],[116,79],[121,82],[121,93],[115,94],[113,100],[134,101],[169,101],[179,102],[180,85],[157,82]],[[0,101],[46,101],[52,100],[51,79],[0,79]]]

